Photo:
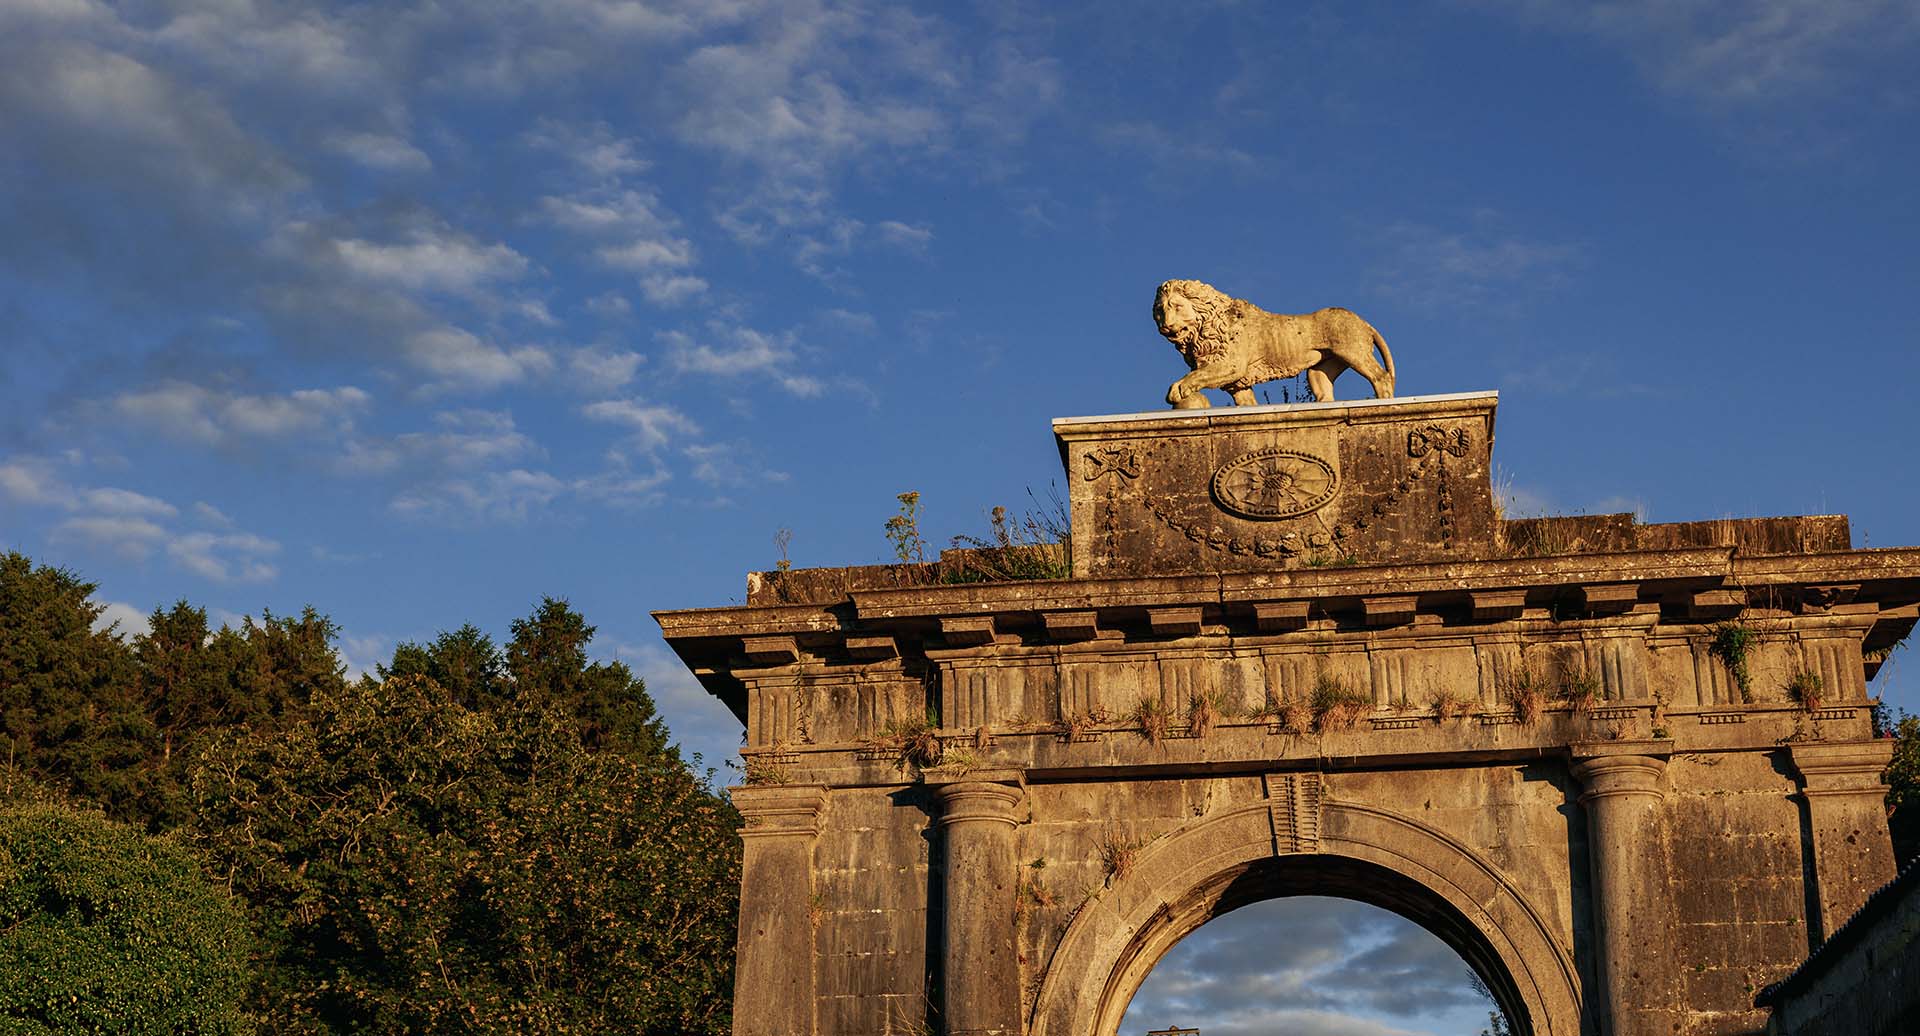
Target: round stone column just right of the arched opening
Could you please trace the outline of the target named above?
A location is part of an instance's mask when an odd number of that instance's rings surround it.
[[[1672,741],[1574,744],[1599,940],[1594,998],[1611,1036],[1672,1036],[1672,894],[1661,823],[1661,775]]]

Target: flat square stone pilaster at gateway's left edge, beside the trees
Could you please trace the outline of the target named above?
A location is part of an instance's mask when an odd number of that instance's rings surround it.
[[[814,835],[828,804],[822,785],[732,789],[745,817],[733,1036],[812,1036]]]

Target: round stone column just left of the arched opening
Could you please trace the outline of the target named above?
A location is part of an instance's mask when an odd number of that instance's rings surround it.
[[[931,777],[931,775],[929,775]],[[1020,1036],[1014,827],[1025,790],[1018,771],[939,785],[947,873],[941,1013],[947,1036]]]

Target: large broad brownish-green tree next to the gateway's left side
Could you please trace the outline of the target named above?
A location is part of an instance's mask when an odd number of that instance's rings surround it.
[[[726,1028],[737,815],[678,758],[588,750],[553,700],[361,681],[219,739],[194,794],[282,1030]]]

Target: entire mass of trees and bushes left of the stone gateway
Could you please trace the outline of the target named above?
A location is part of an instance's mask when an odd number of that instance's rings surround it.
[[[564,600],[349,683],[313,608],[92,591],[0,556],[0,1032],[726,1030],[739,817]]]

